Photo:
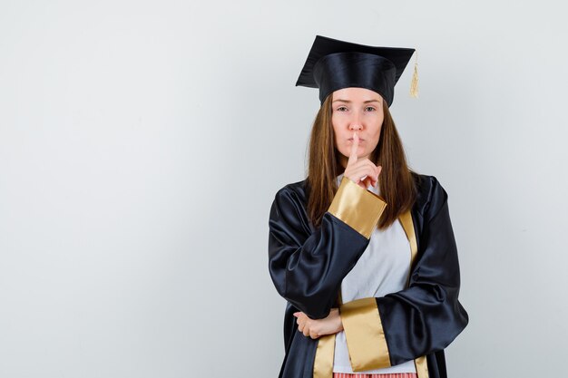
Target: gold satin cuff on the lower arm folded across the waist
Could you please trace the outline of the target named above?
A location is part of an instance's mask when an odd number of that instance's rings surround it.
[[[389,367],[387,339],[375,298],[348,302],[340,312],[353,372]]]

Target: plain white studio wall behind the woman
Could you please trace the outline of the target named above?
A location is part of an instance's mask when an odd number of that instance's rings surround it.
[[[560,1],[0,3],[0,376],[276,377],[269,206],[316,34],[418,51],[391,111],[449,193],[450,377],[565,372]]]

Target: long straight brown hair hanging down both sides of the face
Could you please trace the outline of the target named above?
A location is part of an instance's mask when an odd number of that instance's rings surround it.
[[[344,168],[339,162],[340,152],[335,147],[335,134],[331,124],[332,96],[319,108],[311,129],[308,157],[308,217],[318,226],[338,190],[336,177]],[[416,199],[416,185],[412,171],[406,164],[405,151],[398,136],[387,102],[383,101],[384,121],[377,148],[369,160],[382,166],[379,175],[381,197],[387,208],[378,220],[378,228],[390,226],[410,208]]]

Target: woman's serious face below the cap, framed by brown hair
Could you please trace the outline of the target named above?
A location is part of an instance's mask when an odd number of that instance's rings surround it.
[[[375,150],[385,117],[383,98],[365,88],[343,88],[332,93],[331,124],[341,165],[347,166],[353,132],[359,137],[357,158],[368,158]]]

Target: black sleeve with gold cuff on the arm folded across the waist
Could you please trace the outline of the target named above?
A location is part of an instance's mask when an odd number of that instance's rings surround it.
[[[406,289],[341,305],[354,372],[380,369],[446,348],[468,323],[446,191],[434,179]]]

